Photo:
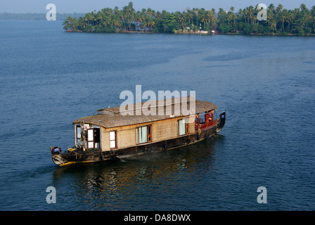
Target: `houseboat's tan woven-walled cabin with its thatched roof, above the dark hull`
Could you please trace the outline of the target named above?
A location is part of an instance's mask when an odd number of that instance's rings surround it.
[[[169,103],[164,100],[162,115],[158,113],[158,101],[150,104],[150,115],[143,113],[136,115],[139,103],[128,105],[128,109],[124,112],[121,106],[98,110],[97,115],[83,117],[73,122],[75,146],[80,146],[83,150],[115,151],[189,136],[198,132],[198,129],[213,127],[216,122],[214,110],[217,109],[217,105],[207,101],[197,101],[192,96],[186,99],[188,108],[195,107],[193,114],[189,110],[180,110],[180,113],[176,113],[176,110],[181,109],[185,104],[183,101],[176,101],[175,98]],[[143,104],[141,103],[141,108]],[[152,113],[153,110],[155,113]],[[170,113],[165,113],[167,110]],[[126,113],[129,115],[122,115]]]

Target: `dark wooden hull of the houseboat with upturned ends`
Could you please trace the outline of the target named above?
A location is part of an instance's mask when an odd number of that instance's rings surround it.
[[[171,150],[172,148],[179,148],[187,146],[198,141],[209,138],[210,136],[217,134],[225,124],[225,112],[220,114],[219,122],[205,129],[196,131],[195,134],[187,134],[178,136],[175,139],[167,139],[164,141],[143,143],[129,148],[120,148],[116,150],[86,150],[79,151],[73,150],[71,152],[60,153],[56,151],[59,147],[51,147],[51,156],[53,162],[56,165],[69,165],[73,163],[84,163],[84,162],[103,162],[107,160],[117,160],[120,158],[127,158],[134,155],[143,155],[148,153],[160,152],[163,150]],[[59,148],[60,149],[60,148]]]

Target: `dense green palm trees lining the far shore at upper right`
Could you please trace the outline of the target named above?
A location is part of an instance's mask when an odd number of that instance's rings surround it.
[[[233,6],[229,11],[219,8],[186,9],[169,13],[143,8],[134,9],[129,2],[122,9],[103,8],[101,11],[86,13],[83,17],[69,16],[63,21],[64,29],[73,32],[196,32],[215,30],[219,33],[244,34],[315,34],[315,6],[310,9],[301,4],[293,10],[281,4],[270,4],[266,8],[266,20],[258,20],[262,8],[248,6],[238,11]]]

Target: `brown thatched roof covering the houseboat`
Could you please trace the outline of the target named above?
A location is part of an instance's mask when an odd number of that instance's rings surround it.
[[[194,103],[195,111],[191,110]],[[105,128],[122,127],[132,124],[167,120],[172,117],[184,117],[195,113],[215,110],[216,108],[217,105],[214,105],[213,103],[197,101],[192,96],[188,96],[187,98],[165,99],[164,101],[160,101],[160,104],[159,101],[147,101],[132,105],[117,106],[114,108],[104,108],[98,110],[98,115],[83,117],[75,120],[73,123],[84,122],[86,124],[96,124]],[[147,110],[147,113],[144,112],[145,110]],[[153,115],[154,112],[155,115]]]

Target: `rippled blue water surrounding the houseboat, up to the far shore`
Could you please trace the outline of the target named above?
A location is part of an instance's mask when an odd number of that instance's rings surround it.
[[[0,210],[315,210],[314,37],[62,27],[0,20]],[[165,153],[53,164],[49,146],[72,145],[74,120],[120,105],[136,84],[196,91],[226,110],[226,125]]]

